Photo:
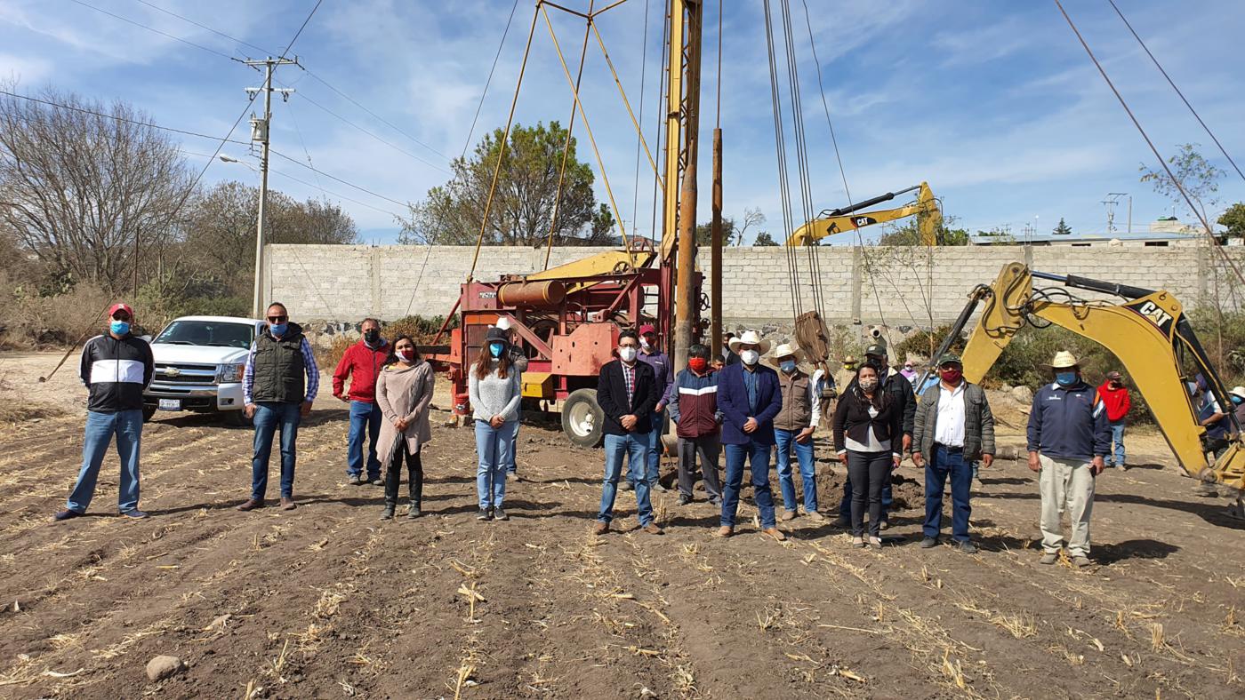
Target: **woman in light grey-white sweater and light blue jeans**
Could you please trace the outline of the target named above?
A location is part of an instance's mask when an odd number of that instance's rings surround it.
[[[489,328],[484,347],[471,368],[468,392],[472,418],[476,419],[476,494],[479,496],[477,520],[507,520],[502,510],[505,497],[505,465],[509,463],[510,435],[519,424],[522,388],[519,373],[510,364],[505,331]]]

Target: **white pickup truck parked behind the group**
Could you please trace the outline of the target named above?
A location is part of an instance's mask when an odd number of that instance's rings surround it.
[[[157,410],[219,412],[247,425],[242,375],[264,322],[229,316],[183,316],[152,339],[156,372],[143,392],[143,419]]]

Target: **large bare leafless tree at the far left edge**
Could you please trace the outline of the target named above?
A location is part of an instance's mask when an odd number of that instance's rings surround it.
[[[134,237],[159,246],[178,230],[186,162],[123,102],[52,88],[39,97],[0,96],[0,226],[54,274],[128,287]]]

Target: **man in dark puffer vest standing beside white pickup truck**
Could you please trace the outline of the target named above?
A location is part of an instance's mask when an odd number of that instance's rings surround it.
[[[250,499],[240,511],[264,507],[268,489],[268,458],[273,436],[281,429],[281,510],[294,505],[294,444],[299,423],[311,413],[311,402],[320,389],[320,369],[303,327],[290,323],[284,303],[268,307],[268,326],[259,333],[247,356],[243,374],[247,418],[255,421],[255,453],[250,464]]]

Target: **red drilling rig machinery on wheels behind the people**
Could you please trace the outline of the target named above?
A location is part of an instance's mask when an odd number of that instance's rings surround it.
[[[632,266],[632,256],[644,261]],[[529,358],[523,373],[524,399],[561,402],[566,436],[581,446],[599,445],[603,414],[596,405],[596,378],[601,366],[614,358],[619,332],[652,323],[659,329],[659,346],[670,348],[674,269],[666,264],[644,266],[652,257],[652,251],[614,251],[537,275],[462,285],[449,312],[449,318],[458,315],[459,326],[451,331],[448,348],[428,348],[432,352],[427,353],[428,359],[448,366],[454,413],[471,414],[467,372],[479,357],[488,328],[509,318]],[[609,271],[594,274],[603,266]],[[692,298],[703,306],[701,281],[695,274]],[[697,337],[701,331],[697,326]]]

